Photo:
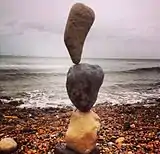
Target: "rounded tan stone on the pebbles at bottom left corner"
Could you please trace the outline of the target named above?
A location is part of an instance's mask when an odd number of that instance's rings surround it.
[[[11,153],[17,149],[17,143],[12,138],[4,138],[0,141],[0,152]]]

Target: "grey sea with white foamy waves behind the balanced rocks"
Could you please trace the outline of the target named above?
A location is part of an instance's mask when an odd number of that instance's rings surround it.
[[[160,60],[85,59],[104,70],[96,101],[133,104],[160,98]],[[22,100],[22,107],[72,106],[66,91],[70,58],[0,56],[0,96]]]

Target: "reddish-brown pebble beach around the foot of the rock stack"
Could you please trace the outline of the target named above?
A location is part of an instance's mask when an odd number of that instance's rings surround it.
[[[54,152],[64,143],[72,107],[18,108],[0,102],[0,139],[11,137],[18,144],[13,154]],[[106,153],[160,153],[160,102],[144,106],[98,104],[93,108],[101,118],[97,146]],[[124,141],[116,143],[119,137]]]

